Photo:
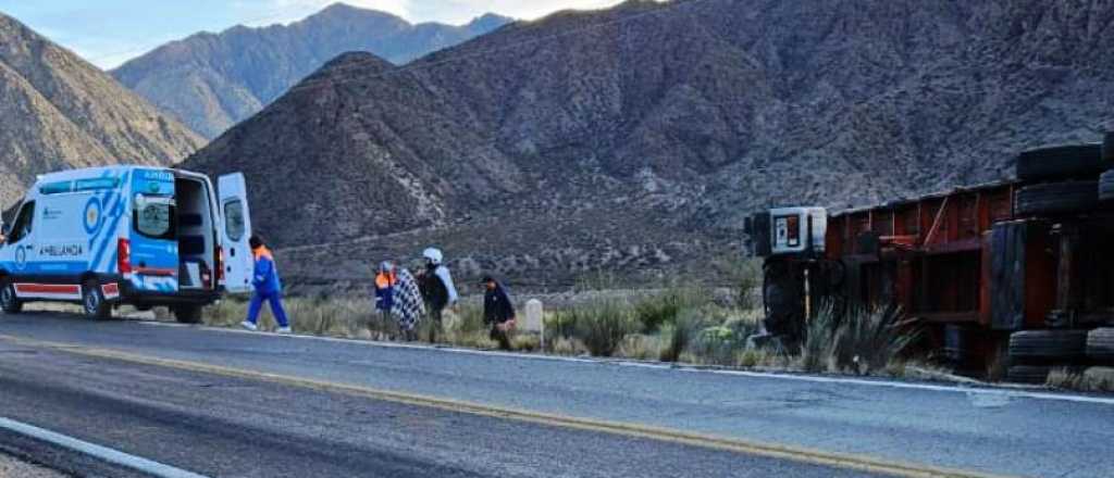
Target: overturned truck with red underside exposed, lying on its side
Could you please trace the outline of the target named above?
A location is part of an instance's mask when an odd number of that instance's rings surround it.
[[[1114,365],[1114,133],[1025,151],[1016,172],[862,209],[753,216],[768,331],[801,339],[824,302],[897,305],[925,347],[969,374],[1044,382],[1057,367]]]

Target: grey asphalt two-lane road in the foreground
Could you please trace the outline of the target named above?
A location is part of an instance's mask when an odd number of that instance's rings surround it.
[[[866,475],[28,340],[883,461],[1114,476],[1114,399],[1102,397],[550,360],[48,313],[0,316],[0,337],[8,337],[0,338],[0,417],[211,476]]]

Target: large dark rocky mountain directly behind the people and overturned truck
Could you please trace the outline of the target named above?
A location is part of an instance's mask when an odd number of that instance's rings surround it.
[[[326,64],[193,156],[305,283],[440,243],[471,273],[715,278],[742,218],[1007,178],[1114,125],[1110,0],[631,1],[405,67]]]

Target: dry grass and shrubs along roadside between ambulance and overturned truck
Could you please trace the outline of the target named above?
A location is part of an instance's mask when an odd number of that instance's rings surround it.
[[[800,349],[773,346],[756,348],[750,337],[761,330],[762,311],[756,308],[755,289],[761,268],[756,262],[735,266],[737,282],[730,300],[698,287],[667,287],[651,293],[604,293],[614,288],[614,279],[597,276],[577,287],[582,300],[544,319],[545,343],[536,333],[514,332],[512,349],[544,350],[558,356],[593,355],[637,360],[682,361],[697,365],[838,372],[903,377],[916,370],[903,351],[918,337],[902,321],[896,309],[851,309],[837,313],[827,306],[810,322],[808,339]],[[730,303],[726,303],[730,302]],[[372,310],[368,299],[292,298],[286,301],[295,332],[371,340],[397,340],[393,320]],[[207,323],[236,327],[246,315],[244,299],[232,298],[207,310]],[[266,308],[261,328],[274,328]],[[430,320],[419,322],[419,338],[428,339],[438,327]],[[472,298],[456,311],[446,311],[438,327],[438,342],[460,347],[494,349],[489,328],[483,323],[482,307]],[[771,348],[772,347],[772,348]]]

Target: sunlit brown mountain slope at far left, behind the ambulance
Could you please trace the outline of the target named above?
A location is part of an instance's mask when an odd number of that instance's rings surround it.
[[[96,67],[0,14],[0,209],[38,173],[169,165],[204,143]]]

